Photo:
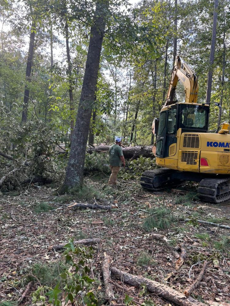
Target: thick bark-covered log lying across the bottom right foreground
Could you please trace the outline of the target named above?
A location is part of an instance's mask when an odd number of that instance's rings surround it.
[[[144,284],[149,292],[155,293],[158,296],[163,297],[179,306],[207,306],[206,304],[201,303],[192,297],[186,297],[183,293],[178,292],[167,285],[152,281],[148,278],[129,274],[115,267],[111,268],[111,273],[118,279],[121,279],[122,277],[124,282],[131,286],[141,287]]]

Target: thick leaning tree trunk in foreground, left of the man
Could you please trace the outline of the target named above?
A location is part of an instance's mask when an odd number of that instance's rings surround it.
[[[104,14],[108,2],[98,1],[94,22],[90,30],[90,43],[86,59],[85,75],[76,117],[76,124],[71,144],[70,157],[66,169],[66,177],[58,192],[63,193],[68,188],[82,186],[83,170],[86,154],[86,144],[89,134],[90,117],[94,105],[94,95],[98,78],[102,41],[105,32]]]

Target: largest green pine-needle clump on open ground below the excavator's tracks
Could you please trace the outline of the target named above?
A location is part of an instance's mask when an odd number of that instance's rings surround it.
[[[144,221],[143,227],[145,230],[166,229],[169,228],[175,217],[172,215],[171,210],[167,208],[156,207],[149,209],[149,217]]]

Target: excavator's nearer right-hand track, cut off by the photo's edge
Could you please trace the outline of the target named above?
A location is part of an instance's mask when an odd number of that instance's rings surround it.
[[[230,178],[204,178],[198,187],[201,200],[211,203],[221,203],[230,199]]]

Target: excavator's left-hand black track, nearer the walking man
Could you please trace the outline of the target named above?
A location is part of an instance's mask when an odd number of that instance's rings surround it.
[[[160,191],[167,187],[172,187],[178,183],[178,180],[172,180],[171,175],[175,170],[160,168],[146,170],[140,178],[140,185],[144,189],[151,191]]]

